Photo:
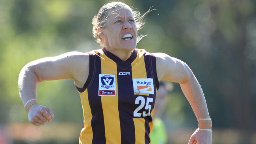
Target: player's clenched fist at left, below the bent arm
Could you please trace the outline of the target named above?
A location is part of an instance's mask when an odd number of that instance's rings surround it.
[[[53,118],[51,109],[43,105],[34,105],[28,111],[28,120],[35,126],[45,124],[47,121],[50,123]]]

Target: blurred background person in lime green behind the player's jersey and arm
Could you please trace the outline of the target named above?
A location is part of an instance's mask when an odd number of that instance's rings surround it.
[[[168,90],[163,81],[160,81],[159,85],[160,87],[156,93],[153,130],[150,133],[151,144],[167,144],[168,142],[168,133],[164,122],[161,120],[161,115],[165,111],[165,105],[168,102]]]

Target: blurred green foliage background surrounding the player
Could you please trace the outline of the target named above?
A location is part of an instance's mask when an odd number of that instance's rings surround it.
[[[147,15],[147,34],[137,48],[165,52],[193,70],[208,102],[214,128],[256,129],[256,1],[130,0]],[[17,79],[26,63],[69,51],[100,48],[91,19],[107,0],[0,1],[0,123],[28,122]],[[39,84],[38,101],[56,122],[82,124],[80,97],[72,80]],[[163,116],[167,126],[197,127],[179,85]]]

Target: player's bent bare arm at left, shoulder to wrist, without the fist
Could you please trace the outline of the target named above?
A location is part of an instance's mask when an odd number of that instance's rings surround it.
[[[23,104],[36,98],[37,84],[44,80],[74,79],[78,87],[85,83],[89,72],[89,56],[68,52],[28,63],[19,74],[19,90]]]

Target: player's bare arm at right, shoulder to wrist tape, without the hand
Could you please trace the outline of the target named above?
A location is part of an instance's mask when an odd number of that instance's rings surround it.
[[[167,54],[155,53],[158,78],[180,84],[197,119],[210,118],[202,89],[186,63]]]

